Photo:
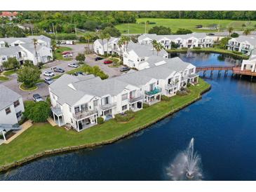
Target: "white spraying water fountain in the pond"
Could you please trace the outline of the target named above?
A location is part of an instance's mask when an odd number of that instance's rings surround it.
[[[167,168],[172,180],[201,180],[201,157],[194,152],[194,138],[185,151],[177,154],[173,163]]]

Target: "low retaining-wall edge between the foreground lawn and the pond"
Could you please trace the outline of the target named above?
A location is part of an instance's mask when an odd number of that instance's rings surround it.
[[[50,155],[53,155],[53,154],[72,152],[72,151],[77,151],[79,149],[86,149],[86,148],[90,148],[90,147],[94,147],[94,146],[102,146],[102,145],[105,145],[105,144],[112,144],[114,142],[119,141],[120,139],[123,139],[125,137],[128,137],[129,135],[134,134],[135,132],[139,132],[140,130],[144,130],[145,128],[148,128],[149,126],[154,125],[155,123],[163,120],[164,118],[175,114],[177,111],[180,111],[180,110],[184,109],[185,107],[188,107],[190,104],[193,104],[194,102],[196,102],[198,100],[201,100],[202,95],[204,93],[208,92],[210,89],[211,89],[211,85],[209,84],[208,88],[205,88],[205,89],[201,90],[198,97],[195,97],[193,100],[190,100],[189,102],[182,105],[181,107],[177,107],[176,109],[173,109],[173,110],[169,111],[168,113],[164,114],[163,116],[160,116],[159,118],[156,118],[154,121],[146,123],[146,124],[140,126],[139,128],[137,128],[135,130],[132,130],[130,132],[126,132],[125,134],[120,135],[119,137],[115,137],[114,139],[109,139],[109,140],[104,141],[104,142],[95,142],[93,144],[81,144],[81,145],[77,145],[77,146],[67,146],[67,147],[63,147],[63,148],[60,148],[60,149],[52,149],[52,150],[42,151],[42,152],[39,152],[39,153],[34,153],[34,155],[32,155],[32,156],[27,156],[25,158],[22,158],[21,160],[16,160],[13,163],[8,163],[6,165],[0,166],[0,172],[6,172],[6,171],[10,170],[11,168],[18,167],[20,165],[24,165],[26,163],[29,163],[32,160],[36,160],[38,158],[43,158],[43,157],[50,156]]]

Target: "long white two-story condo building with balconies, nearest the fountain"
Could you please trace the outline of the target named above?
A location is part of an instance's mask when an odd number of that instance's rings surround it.
[[[49,85],[53,117],[59,126],[69,124],[77,131],[125,111],[142,109],[144,103],[155,104],[161,95],[171,97],[187,83],[196,83],[193,64],[176,57],[140,71],[101,80],[93,75],[64,74]]]

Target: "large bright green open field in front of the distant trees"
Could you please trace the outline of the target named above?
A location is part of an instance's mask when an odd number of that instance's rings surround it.
[[[256,21],[236,21],[236,20],[196,20],[196,19],[162,19],[162,18],[138,18],[137,23],[129,24],[130,34],[142,34],[145,32],[145,25],[141,22],[156,22],[154,25],[147,25],[147,32],[151,27],[163,25],[170,27],[172,32],[176,32],[177,29],[190,29],[192,32],[217,32],[213,29],[196,29],[196,25],[203,25],[203,27],[209,27],[209,25],[220,25],[220,30],[227,29],[228,27],[234,27],[236,30],[243,30],[242,25],[246,27],[254,28]],[[126,34],[128,30],[128,24],[116,25],[116,28],[120,30],[122,34]]]

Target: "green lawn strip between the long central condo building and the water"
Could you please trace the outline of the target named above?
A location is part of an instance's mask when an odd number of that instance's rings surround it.
[[[176,95],[171,97],[170,101],[162,101],[147,109],[137,111],[135,118],[128,123],[118,123],[115,119],[112,119],[102,125],[95,125],[82,132],[52,127],[48,123],[34,124],[32,128],[23,132],[22,135],[14,139],[10,144],[2,144],[0,146],[0,165],[6,165],[15,160],[20,160],[34,153],[49,149],[80,144],[94,144],[115,139],[130,131],[138,130],[147,123],[153,123],[156,119],[161,118],[170,111],[188,104],[209,87],[208,83],[199,79],[198,85],[189,88],[191,90],[190,95]]]

